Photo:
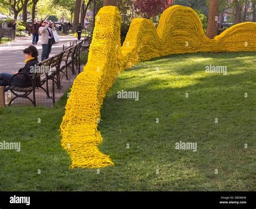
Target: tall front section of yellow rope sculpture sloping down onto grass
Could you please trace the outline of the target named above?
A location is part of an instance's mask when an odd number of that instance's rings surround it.
[[[62,146],[72,159],[70,168],[113,165],[98,150],[103,139],[97,121],[106,92],[121,69],[119,11],[113,6],[103,8],[96,19],[87,65],[73,83],[60,126]]]

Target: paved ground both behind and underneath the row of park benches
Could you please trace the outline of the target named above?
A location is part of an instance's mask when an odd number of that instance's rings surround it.
[[[65,48],[70,45],[70,41],[77,40],[75,37],[71,36],[60,36],[59,37],[60,42],[58,44],[52,45],[52,51],[50,54],[50,57],[52,57],[55,54],[58,54],[59,52],[63,51],[63,45],[65,45]],[[15,43],[11,44],[1,44],[0,45],[0,73],[11,73],[11,71],[17,71],[19,68],[22,68],[24,66],[24,60],[25,55],[22,52],[24,48],[28,47],[31,44],[32,39],[31,37],[17,37]],[[77,42],[78,43],[78,42]],[[42,45],[39,37],[39,42],[37,45],[35,45],[39,51],[39,61],[41,61],[41,52],[42,52]],[[83,64],[80,66],[81,70],[83,70]],[[68,71],[69,73],[69,80],[65,79],[65,76],[61,74],[61,83],[62,88],[56,89],[55,86],[55,100],[58,101],[60,97],[65,93],[66,89],[72,86],[73,81],[75,80],[77,76],[77,69],[76,74],[72,75],[71,71]],[[45,87],[45,85],[44,85]],[[50,95],[52,95],[52,85],[51,81],[49,81],[49,90]],[[5,97],[6,97],[5,93]],[[12,95],[14,96],[14,95]],[[32,97],[32,94],[29,95],[29,97]],[[8,101],[8,98],[6,97],[6,102]],[[42,89],[36,89],[36,102],[39,106],[52,106],[52,99],[47,99],[46,94]],[[31,105],[31,102],[28,99],[22,99],[18,98],[15,100],[12,105],[17,106],[26,106]]]

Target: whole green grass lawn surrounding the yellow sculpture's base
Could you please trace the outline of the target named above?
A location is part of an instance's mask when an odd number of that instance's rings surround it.
[[[210,64],[227,75],[205,73]],[[256,52],[178,54],[124,71],[99,123],[115,166],[99,174],[69,169],[58,131],[66,95],[52,109],[0,108],[0,142],[21,142],[20,152],[0,150],[0,190],[255,191],[255,64]],[[139,100],[117,99],[122,89]],[[176,150],[179,141],[197,151]]]

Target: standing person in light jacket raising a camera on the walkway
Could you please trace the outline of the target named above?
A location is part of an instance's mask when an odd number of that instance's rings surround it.
[[[42,54],[41,61],[48,59],[49,54],[51,53],[52,46],[52,31],[55,30],[54,27],[51,29],[50,23],[46,22],[46,20],[41,21],[41,26],[39,27],[39,33],[41,34],[41,44],[42,44]]]

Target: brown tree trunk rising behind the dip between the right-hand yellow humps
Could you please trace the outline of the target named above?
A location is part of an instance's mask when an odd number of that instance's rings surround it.
[[[206,32],[206,36],[208,38],[214,38],[214,36],[216,36],[217,34],[218,12],[219,12],[219,0],[210,0],[208,24],[207,24],[207,32]]]

